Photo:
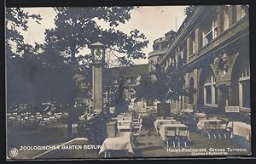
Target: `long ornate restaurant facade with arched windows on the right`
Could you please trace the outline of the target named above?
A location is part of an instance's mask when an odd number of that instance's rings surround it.
[[[180,109],[191,105],[212,115],[228,116],[236,110],[240,116],[249,116],[248,7],[198,6],[158,63],[165,71],[177,67],[185,77],[184,87],[196,89],[195,94],[181,96],[172,108],[178,103]]]

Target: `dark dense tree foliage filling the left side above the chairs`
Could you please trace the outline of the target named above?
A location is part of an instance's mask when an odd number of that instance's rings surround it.
[[[21,31],[28,30],[29,19],[38,23],[42,20],[40,15],[28,14],[21,8],[7,8],[8,106],[19,103],[41,105],[52,100],[67,106],[67,99],[71,99],[70,93],[74,92],[70,88],[73,87],[72,72],[67,68],[65,57],[56,54],[55,48],[24,42]],[[82,62],[86,57],[79,56],[78,59]],[[77,71],[84,71],[86,67],[76,66]]]

